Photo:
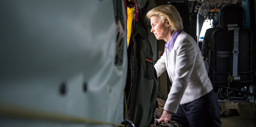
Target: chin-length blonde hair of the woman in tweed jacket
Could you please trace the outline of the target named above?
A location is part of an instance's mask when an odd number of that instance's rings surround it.
[[[181,16],[173,5],[161,5],[151,9],[147,12],[147,18],[150,19],[152,16],[156,16],[162,23],[168,20],[172,31],[183,29]]]

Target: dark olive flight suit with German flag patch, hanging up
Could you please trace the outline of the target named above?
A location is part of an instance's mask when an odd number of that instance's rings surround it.
[[[125,92],[128,118],[136,127],[154,124],[158,81],[154,69],[153,51],[148,40],[145,9],[139,9],[136,21],[136,8],[132,21],[132,31],[128,46],[128,75]],[[137,11],[138,12],[138,11]]]

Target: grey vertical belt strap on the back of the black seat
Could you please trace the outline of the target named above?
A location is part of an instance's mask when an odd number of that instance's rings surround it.
[[[240,76],[237,75],[238,68],[238,43],[239,43],[239,27],[237,24],[228,24],[228,31],[234,30],[234,48],[233,48],[233,76],[228,76],[228,81],[239,81]]]

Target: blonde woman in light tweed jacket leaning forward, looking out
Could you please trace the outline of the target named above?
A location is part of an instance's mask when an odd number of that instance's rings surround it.
[[[182,127],[220,127],[220,108],[207,76],[197,43],[182,31],[182,20],[173,5],[161,5],[147,13],[151,32],[166,41],[156,62],[159,77],[165,70],[172,82],[164,111],[158,122],[170,118]]]

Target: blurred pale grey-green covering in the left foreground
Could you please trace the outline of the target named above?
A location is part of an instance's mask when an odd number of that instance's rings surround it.
[[[0,11],[1,104],[123,121],[127,52],[116,66],[112,0],[1,1]],[[61,83],[67,86],[63,95]],[[102,126],[6,116],[0,116],[0,123]]]

